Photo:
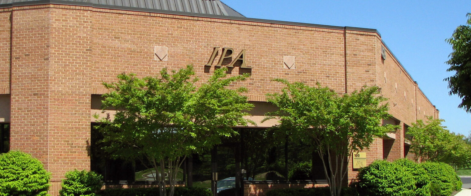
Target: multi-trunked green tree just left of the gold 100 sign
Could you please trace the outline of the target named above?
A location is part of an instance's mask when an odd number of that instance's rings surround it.
[[[374,138],[395,127],[380,126],[390,117],[388,104],[382,104],[386,98],[377,95],[377,86],[340,96],[327,87],[275,81],[285,87],[282,94],[267,94],[268,102],[279,107],[268,118],[279,119],[276,130],[289,132],[292,141],[312,143],[324,163],[331,196],[340,196],[348,171],[345,163],[352,153],[368,148]]]

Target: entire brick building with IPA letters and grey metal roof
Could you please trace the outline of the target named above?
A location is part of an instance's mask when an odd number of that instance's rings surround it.
[[[219,63],[220,55],[207,66],[214,49],[232,58],[244,52],[248,68],[231,74],[251,73],[237,85],[249,89],[257,110],[248,118],[256,122],[273,109],[265,94],[283,87],[271,78],[319,82],[339,94],[380,86],[394,117],[384,123],[402,128],[378,138],[365,151],[367,163],[407,157],[407,127],[439,117],[374,29],[246,18],[219,0],[2,0],[0,149],[41,160],[57,195],[65,172],[91,167],[91,116],[101,111],[102,82],[187,64],[204,81]]]

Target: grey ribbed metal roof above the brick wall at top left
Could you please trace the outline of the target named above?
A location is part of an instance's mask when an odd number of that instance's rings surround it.
[[[106,6],[107,8],[124,10],[128,10],[129,8],[140,8],[194,14],[245,17],[220,0],[0,0],[0,8],[46,3],[89,6],[101,5],[99,7]]]

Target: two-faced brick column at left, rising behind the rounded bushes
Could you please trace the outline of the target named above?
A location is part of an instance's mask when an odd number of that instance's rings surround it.
[[[11,149],[38,158],[58,195],[67,171],[89,170],[92,12],[15,7]]]

